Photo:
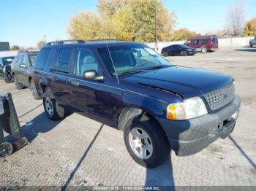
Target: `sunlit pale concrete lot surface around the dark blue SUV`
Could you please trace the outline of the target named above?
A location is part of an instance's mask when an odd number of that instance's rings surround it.
[[[0,92],[11,92],[31,143],[0,158],[0,186],[86,185],[254,185],[256,186],[256,48],[222,48],[189,57],[168,57],[178,66],[227,73],[236,79],[241,114],[227,139],[202,152],[170,158],[161,166],[137,165],[124,146],[123,133],[78,114],[52,122],[28,89],[0,80]]]

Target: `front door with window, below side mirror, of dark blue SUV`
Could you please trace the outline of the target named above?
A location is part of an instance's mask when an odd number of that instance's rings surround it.
[[[73,77],[69,82],[70,106],[75,112],[107,120],[113,114],[113,106],[108,101],[108,86],[104,82],[83,79],[85,71],[95,70],[102,75],[99,61],[94,52],[87,48],[78,48],[75,55]]]

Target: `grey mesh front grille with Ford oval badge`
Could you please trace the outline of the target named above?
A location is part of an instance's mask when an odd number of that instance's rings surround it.
[[[220,88],[219,90],[214,90],[210,93],[206,93],[205,95],[203,95],[203,97],[206,98],[206,101],[210,106],[211,110],[216,110],[230,103],[230,101],[235,98],[235,95],[236,87],[232,83],[230,85]]]

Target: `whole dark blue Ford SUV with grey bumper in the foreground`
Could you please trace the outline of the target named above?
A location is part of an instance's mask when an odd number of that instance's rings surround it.
[[[50,42],[34,77],[51,120],[77,112],[124,130],[129,155],[148,168],[199,152],[236,124],[232,77],[178,67],[145,44],[114,40]]]

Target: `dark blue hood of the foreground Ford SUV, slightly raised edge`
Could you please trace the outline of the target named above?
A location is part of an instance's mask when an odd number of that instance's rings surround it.
[[[225,74],[178,66],[133,74],[124,80],[177,93],[183,98],[200,96],[233,82]]]

